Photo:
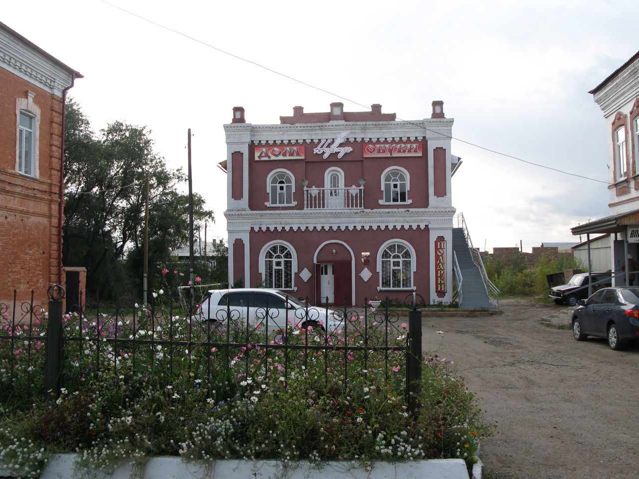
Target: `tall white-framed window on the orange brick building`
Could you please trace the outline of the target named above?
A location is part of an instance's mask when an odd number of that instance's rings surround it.
[[[15,169],[40,178],[40,108],[33,103],[35,94],[27,93],[15,102]]]

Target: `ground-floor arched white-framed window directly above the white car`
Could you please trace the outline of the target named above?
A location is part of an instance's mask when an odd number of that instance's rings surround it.
[[[297,253],[287,241],[270,241],[259,252],[258,270],[267,288],[296,291]]]

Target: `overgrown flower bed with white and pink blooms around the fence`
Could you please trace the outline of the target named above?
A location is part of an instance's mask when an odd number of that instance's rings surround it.
[[[186,335],[180,331],[184,321],[170,321],[173,335]],[[112,333],[105,323],[84,328]],[[118,328],[130,335],[126,324]],[[153,331],[167,329],[157,325]],[[39,476],[56,453],[68,452],[77,452],[77,471],[85,475],[129,464],[141,476],[148,460],[167,455],[194,465],[276,460],[282,468],[307,462],[321,469],[346,461],[366,470],[448,458],[472,464],[479,438],[491,427],[449,361],[424,356],[421,407],[413,416],[404,397],[403,349],[329,351],[321,349],[322,338],[313,331],[293,334],[300,344],[317,346],[314,353],[256,351],[250,344],[231,356],[224,348],[198,344],[188,349],[141,344],[131,353],[89,342],[68,358],[67,389],[59,395],[43,399],[3,386],[0,464],[24,477]],[[357,344],[361,335],[355,329],[332,346]],[[99,347],[111,351],[97,370],[91,348]],[[38,354],[33,348],[29,354]],[[14,386],[25,384],[27,374],[18,363]],[[0,368],[6,385],[9,377]]]

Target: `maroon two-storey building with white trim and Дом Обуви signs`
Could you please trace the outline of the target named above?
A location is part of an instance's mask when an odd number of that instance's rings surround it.
[[[453,119],[330,111],[224,125],[229,283],[314,304],[452,300]]]

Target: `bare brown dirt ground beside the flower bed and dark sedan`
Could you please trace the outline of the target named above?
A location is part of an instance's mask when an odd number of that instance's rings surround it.
[[[454,361],[497,432],[494,479],[639,477],[639,346],[539,323],[556,305],[502,300],[493,317],[424,317],[424,349]],[[443,336],[436,331],[443,331]]]

